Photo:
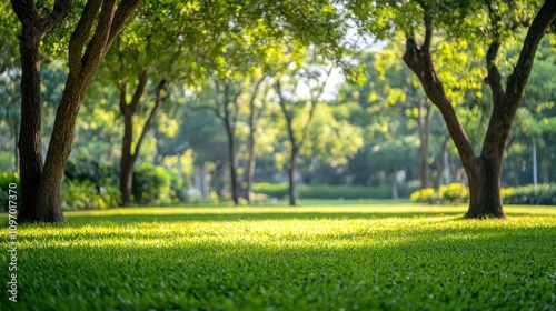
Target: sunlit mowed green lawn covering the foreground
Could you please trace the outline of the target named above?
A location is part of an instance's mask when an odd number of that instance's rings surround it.
[[[19,228],[18,303],[2,290],[0,309],[556,310],[556,209],[506,211],[505,221],[411,204],[68,212],[67,224]]]

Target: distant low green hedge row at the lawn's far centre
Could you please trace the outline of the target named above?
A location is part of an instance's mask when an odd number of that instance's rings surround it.
[[[288,195],[288,183],[255,183],[252,191],[267,194],[272,198],[285,198]],[[300,199],[390,199],[391,189],[388,185],[363,187],[363,185],[320,185],[301,184],[297,187]],[[400,185],[398,195],[408,198],[415,188]]]

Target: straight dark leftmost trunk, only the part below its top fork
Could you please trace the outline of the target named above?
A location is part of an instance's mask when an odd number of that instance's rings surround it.
[[[42,33],[34,26],[23,24],[21,53],[21,131],[19,137],[21,222],[43,221],[36,203],[42,175],[40,50]],[[63,220],[63,219],[62,219]]]

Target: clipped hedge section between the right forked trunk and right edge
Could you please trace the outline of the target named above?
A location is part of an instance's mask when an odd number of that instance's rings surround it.
[[[502,190],[505,204],[556,205],[556,184],[533,184]]]

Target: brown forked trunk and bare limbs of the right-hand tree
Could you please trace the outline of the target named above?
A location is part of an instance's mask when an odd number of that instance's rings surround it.
[[[404,61],[417,74],[427,97],[440,110],[449,134],[458,150],[469,181],[470,202],[466,218],[505,218],[500,198],[504,148],[533,67],[538,42],[556,18],[556,1],[546,1],[533,20],[519,59],[513,73],[507,79],[505,91],[502,87],[502,76],[495,64],[495,58],[500,47],[497,41],[498,38],[494,38],[488,48],[486,54],[488,77],[485,81],[493,91],[493,113],[483,142],[480,157],[475,156],[469,139],[457,119],[450,100],[446,96],[443,82],[436,73],[430,54],[433,20],[427,8],[423,9],[425,11],[424,43],[418,47],[415,38],[409,34],[406,41]],[[490,13],[495,16],[493,26],[499,27],[496,22],[496,12],[490,10]]]

